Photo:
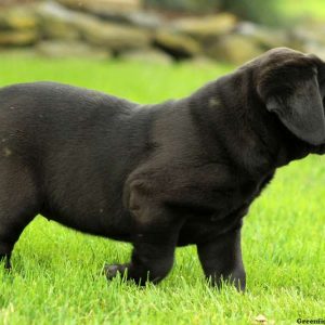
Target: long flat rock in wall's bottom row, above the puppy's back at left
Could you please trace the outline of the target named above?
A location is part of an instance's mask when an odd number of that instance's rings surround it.
[[[36,51],[40,55],[53,58],[91,57],[104,60],[112,56],[112,53],[109,53],[109,51],[90,47],[81,41],[42,41],[37,44]]]

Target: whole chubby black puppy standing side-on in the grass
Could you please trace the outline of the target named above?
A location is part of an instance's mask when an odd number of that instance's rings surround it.
[[[277,167],[325,152],[325,64],[275,49],[191,96],[141,106],[49,82],[0,90],[0,257],[41,213],[133,244],[143,284],[197,245],[207,277],[245,288],[242,219]]]

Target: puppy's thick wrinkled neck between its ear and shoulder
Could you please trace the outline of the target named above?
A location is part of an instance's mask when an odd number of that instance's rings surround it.
[[[208,146],[223,147],[227,159],[247,168],[248,173],[269,172],[310,152],[309,145],[297,140],[265,109],[257,93],[252,68],[238,69],[208,83],[186,102],[206,141],[214,142]]]

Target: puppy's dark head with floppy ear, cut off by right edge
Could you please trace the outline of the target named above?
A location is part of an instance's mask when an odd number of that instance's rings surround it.
[[[325,63],[312,54],[278,48],[251,64],[266,109],[300,140],[325,144]]]

